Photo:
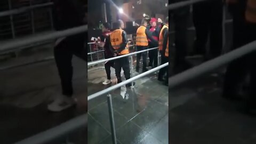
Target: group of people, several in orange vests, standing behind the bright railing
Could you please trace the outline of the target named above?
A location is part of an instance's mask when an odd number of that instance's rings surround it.
[[[160,24],[157,25],[157,22]],[[150,25],[149,25],[150,23]],[[151,18],[150,21],[147,19],[142,19],[141,26],[137,29],[136,36],[136,49],[137,51],[143,51],[154,47],[160,47],[161,60],[162,64],[168,62],[169,56],[169,35],[168,35],[168,23],[169,18],[167,17],[165,22],[162,22],[161,19]],[[113,29],[110,28],[110,24],[105,22],[103,23],[101,41],[96,42],[98,46],[104,47],[105,49],[105,58],[118,57],[119,55],[129,54],[129,45],[126,36],[126,32],[123,30],[124,22],[118,20],[113,24]],[[165,52],[167,51],[167,54]],[[137,54],[137,65],[136,71],[140,72],[140,59],[142,57],[142,73],[148,70],[147,67],[155,68],[158,66],[158,49],[141,52]],[[147,63],[147,58],[149,57],[149,63]],[[121,69],[124,71],[125,79],[131,77],[130,74],[130,63],[129,57],[123,57],[117,60],[107,61],[105,63],[105,69],[107,73],[107,79],[102,84],[111,83],[111,70],[110,68],[115,68],[115,73],[117,77],[117,83],[121,83]],[[168,68],[161,69],[159,73],[158,80],[164,81],[163,76],[167,74]],[[165,85],[168,84],[167,76],[164,81]],[[134,82],[133,82],[134,83]],[[134,83],[135,84],[135,83]],[[126,86],[131,86],[132,84],[127,84]]]

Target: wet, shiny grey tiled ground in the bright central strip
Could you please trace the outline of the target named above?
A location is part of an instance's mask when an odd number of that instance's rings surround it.
[[[105,89],[102,85],[104,71],[89,73],[89,95]],[[97,75],[95,74],[97,73]],[[102,74],[102,75],[100,75]],[[114,75],[113,75],[114,78]],[[95,79],[100,79],[98,82]],[[111,86],[108,85],[108,86]],[[168,143],[168,87],[157,81],[156,74],[136,81],[133,89],[111,92],[115,129],[119,143]],[[107,95],[88,102],[88,143],[111,143]]]

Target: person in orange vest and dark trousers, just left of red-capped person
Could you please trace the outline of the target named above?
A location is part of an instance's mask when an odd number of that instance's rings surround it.
[[[147,50],[148,49],[148,39],[151,40],[155,47],[157,47],[157,41],[152,37],[150,31],[147,29],[148,22],[146,19],[143,19],[141,22],[141,26],[137,29],[137,37],[136,37],[136,46],[137,51]],[[148,52],[138,53],[137,54],[137,65],[136,71],[139,73],[140,68],[140,58],[142,55],[143,59],[143,68],[142,72],[147,71],[147,54]]]

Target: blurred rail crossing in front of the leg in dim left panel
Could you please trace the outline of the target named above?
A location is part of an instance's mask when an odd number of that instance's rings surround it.
[[[50,39],[80,34],[85,31],[87,31],[87,25],[76,27],[76,28],[70,28],[70,29],[66,29],[66,30],[62,30],[62,31],[54,31],[51,34],[38,35],[38,36],[33,36],[31,38],[20,38],[20,39],[11,40],[11,41],[8,41],[5,43],[2,42],[2,43],[0,43],[0,51],[8,51],[8,50],[20,47],[20,46],[26,46],[29,44],[47,41]]]

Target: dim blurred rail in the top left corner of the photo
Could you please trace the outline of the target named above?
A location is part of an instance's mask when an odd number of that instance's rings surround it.
[[[19,14],[19,13],[22,13],[22,12],[27,12],[27,11],[30,11],[30,10],[33,10],[33,9],[37,9],[39,7],[45,7],[45,6],[51,6],[51,5],[53,5],[53,3],[37,4],[37,5],[33,5],[33,6],[25,6],[25,7],[19,8],[19,9],[0,12],[0,17],[12,15],[12,14]]]

